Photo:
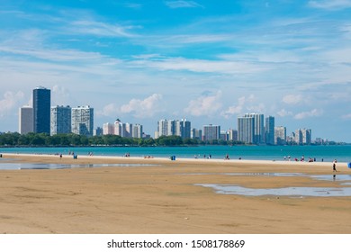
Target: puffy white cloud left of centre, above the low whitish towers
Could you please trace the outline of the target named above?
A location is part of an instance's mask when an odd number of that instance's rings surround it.
[[[148,118],[160,112],[159,102],[162,100],[161,94],[152,94],[144,100],[131,99],[128,104],[121,106],[122,113],[133,113],[136,118]]]

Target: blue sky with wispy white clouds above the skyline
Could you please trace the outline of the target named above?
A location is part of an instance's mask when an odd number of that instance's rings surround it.
[[[32,89],[151,136],[161,119],[351,142],[351,0],[1,0],[0,131]]]

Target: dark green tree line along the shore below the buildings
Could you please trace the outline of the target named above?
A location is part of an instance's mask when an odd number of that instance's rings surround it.
[[[234,145],[238,141],[222,139],[202,141],[199,139],[182,139],[179,136],[161,136],[157,139],[122,138],[117,135],[86,137],[84,135],[47,133],[7,132],[0,134],[1,147],[55,147],[55,146],[194,146],[194,145]]]

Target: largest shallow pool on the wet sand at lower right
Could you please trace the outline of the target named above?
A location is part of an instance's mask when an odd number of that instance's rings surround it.
[[[288,197],[349,197],[351,187],[284,187],[284,188],[247,188],[234,184],[195,184],[212,188],[220,194],[244,196],[288,196]]]

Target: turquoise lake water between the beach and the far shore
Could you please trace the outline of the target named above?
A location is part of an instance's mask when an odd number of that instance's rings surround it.
[[[224,158],[227,154],[230,159],[252,160],[284,160],[291,157],[305,160],[316,158],[331,162],[351,162],[351,145],[337,146],[198,146],[198,147],[64,147],[64,148],[0,148],[0,153],[30,153],[30,154],[68,154],[75,152],[77,155],[94,156],[124,156],[130,157],[185,157],[185,158]]]

